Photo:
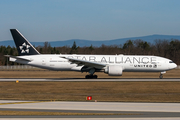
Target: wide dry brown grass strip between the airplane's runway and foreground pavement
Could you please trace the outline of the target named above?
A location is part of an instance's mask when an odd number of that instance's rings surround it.
[[[1,82],[0,99],[180,102],[180,82]]]

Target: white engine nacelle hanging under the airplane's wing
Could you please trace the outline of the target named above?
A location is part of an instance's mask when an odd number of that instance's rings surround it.
[[[109,76],[121,76],[122,71],[123,68],[120,65],[109,65],[104,72],[107,73]]]

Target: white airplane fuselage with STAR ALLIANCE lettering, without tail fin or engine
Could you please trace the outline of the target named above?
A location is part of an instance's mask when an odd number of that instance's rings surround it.
[[[120,65],[122,66],[123,72],[163,72],[177,67],[175,63],[167,58],[143,55],[40,54],[18,56],[18,58],[22,59],[10,57],[10,61],[57,71],[82,71],[82,67],[84,65],[77,65],[75,63],[72,64],[68,59],[63,57],[101,63],[107,66]],[[23,59],[27,59],[29,61]],[[98,69],[99,71],[103,71],[105,67],[99,67]]]

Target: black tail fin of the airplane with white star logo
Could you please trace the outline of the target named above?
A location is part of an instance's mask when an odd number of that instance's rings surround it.
[[[38,55],[40,54],[31,43],[17,30],[10,29],[19,55]]]

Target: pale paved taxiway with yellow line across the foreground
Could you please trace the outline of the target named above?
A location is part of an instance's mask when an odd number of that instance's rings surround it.
[[[12,104],[12,103],[15,104]],[[23,103],[24,102],[24,103]],[[97,120],[136,120],[143,119],[180,119],[180,103],[130,103],[130,102],[38,102],[38,101],[0,100],[0,111],[42,111],[65,113],[113,113],[117,115],[56,115],[56,116],[0,116],[8,118],[41,119],[97,119]],[[6,104],[5,104],[6,103]],[[9,103],[9,104],[7,104]]]

